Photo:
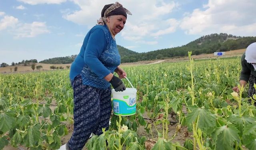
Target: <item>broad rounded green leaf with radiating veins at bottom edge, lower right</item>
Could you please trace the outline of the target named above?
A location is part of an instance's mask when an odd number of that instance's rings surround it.
[[[216,140],[216,150],[233,150],[234,141],[240,142],[238,132],[234,126],[218,128],[213,136],[213,139]]]

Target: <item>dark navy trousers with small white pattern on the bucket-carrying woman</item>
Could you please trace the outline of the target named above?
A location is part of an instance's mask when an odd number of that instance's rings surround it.
[[[82,84],[80,75],[71,81],[74,90],[74,132],[68,142],[70,150],[82,150],[91,133],[108,130],[111,113],[111,89]]]

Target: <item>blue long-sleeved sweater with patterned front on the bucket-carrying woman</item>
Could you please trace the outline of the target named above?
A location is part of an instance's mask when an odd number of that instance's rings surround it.
[[[85,36],[80,53],[70,67],[70,79],[82,76],[84,85],[108,88],[110,83],[104,77],[114,73],[120,65],[116,41],[106,25],[94,26]]]

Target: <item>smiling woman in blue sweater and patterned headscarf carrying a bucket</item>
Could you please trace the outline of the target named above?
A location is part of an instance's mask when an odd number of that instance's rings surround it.
[[[74,90],[74,132],[66,149],[81,150],[91,133],[102,134],[108,130],[111,113],[111,88],[125,90],[122,78],[126,72],[120,65],[120,55],[115,35],[126,23],[130,14],[122,4],[105,5],[98,25],[85,36],[80,53],[70,68]],[[114,76],[116,72],[119,78]]]

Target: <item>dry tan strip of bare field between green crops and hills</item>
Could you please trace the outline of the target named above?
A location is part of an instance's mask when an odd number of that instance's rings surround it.
[[[225,56],[222,57],[233,57],[233,56],[241,56],[246,49],[240,49],[240,50],[231,50],[225,52]],[[194,59],[206,59],[206,58],[217,58],[217,56],[214,56],[213,54],[200,54],[200,55],[193,55],[192,58]],[[137,66],[137,65],[143,65],[143,64],[158,64],[161,62],[180,62],[180,61],[185,61],[188,60],[188,57],[180,57],[180,58],[172,58],[172,59],[165,59],[165,60],[149,60],[149,61],[140,61],[140,62],[134,62],[134,63],[124,63],[121,64],[121,66]],[[42,64],[42,63],[36,63],[36,66],[41,65],[43,68],[42,70],[52,70],[50,69],[50,66],[56,66],[60,67],[62,66],[64,69],[66,66],[71,66],[71,64]],[[18,70],[15,72],[14,67],[18,67]],[[12,69],[12,70],[11,70]],[[32,72],[31,64],[28,66],[23,66],[23,65],[15,65],[15,66],[8,66],[8,67],[1,67],[0,68],[0,73],[5,74],[5,73],[19,73],[19,72]],[[34,70],[38,71],[38,70]]]

